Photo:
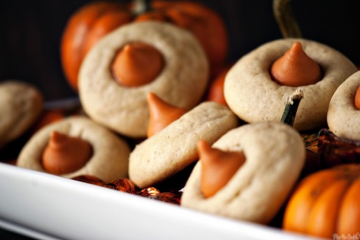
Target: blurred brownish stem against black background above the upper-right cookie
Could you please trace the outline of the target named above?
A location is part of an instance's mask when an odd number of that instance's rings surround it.
[[[273,15],[283,38],[301,37],[300,28],[291,10],[291,0],[273,0]]]

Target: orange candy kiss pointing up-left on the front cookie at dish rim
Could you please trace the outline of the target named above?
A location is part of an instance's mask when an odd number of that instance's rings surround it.
[[[204,197],[213,196],[224,187],[246,160],[242,151],[222,151],[206,140],[197,144],[201,159],[201,191]]]

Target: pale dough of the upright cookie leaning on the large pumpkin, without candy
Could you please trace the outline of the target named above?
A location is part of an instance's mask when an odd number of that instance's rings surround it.
[[[111,74],[111,63],[120,48],[134,41],[159,50],[164,68],[149,84],[120,86]],[[152,21],[127,24],[104,37],[85,57],[79,75],[80,100],[96,122],[125,136],[145,137],[149,122],[147,93],[190,109],[206,90],[208,72],[204,50],[188,31]]]

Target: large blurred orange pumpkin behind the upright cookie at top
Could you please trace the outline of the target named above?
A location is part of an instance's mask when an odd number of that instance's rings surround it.
[[[219,68],[226,61],[226,26],[215,11],[190,1],[154,0],[147,3],[150,7],[145,8],[138,8],[135,3],[138,1],[134,1],[134,4],[92,2],[71,16],[64,29],[60,51],[66,80],[75,91],[78,91],[81,62],[89,49],[112,30],[130,21],[167,21],[185,28],[204,47],[211,69]]]

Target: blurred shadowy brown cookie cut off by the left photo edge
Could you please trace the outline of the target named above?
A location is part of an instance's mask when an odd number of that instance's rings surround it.
[[[33,85],[18,80],[0,83],[0,148],[15,140],[37,120],[43,95]]]

